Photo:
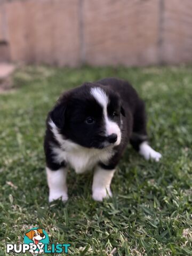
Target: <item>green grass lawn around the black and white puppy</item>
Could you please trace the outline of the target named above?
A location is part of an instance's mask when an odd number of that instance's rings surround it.
[[[151,145],[163,158],[147,162],[127,146],[113,198],[94,202],[92,174],[71,170],[69,201],[50,205],[47,111],[66,89],[108,76],[128,79],[146,101]],[[45,229],[51,243],[70,243],[69,255],[192,255],[191,66],[27,67],[15,73],[14,86],[0,95],[0,255],[31,227]]]

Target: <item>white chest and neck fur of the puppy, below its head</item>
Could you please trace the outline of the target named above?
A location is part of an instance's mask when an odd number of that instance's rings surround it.
[[[56,145],[51,145],[53,157],[59,163],[65,161],[73,167],[76,173],[91,170],[98,162],[107,164],[107,161],[114,154],[112,147],[90,149],[82,147],[73,141],[63,139],[53,121],[50,121],[50,125],[55,139],[61,146],[60,148]]]

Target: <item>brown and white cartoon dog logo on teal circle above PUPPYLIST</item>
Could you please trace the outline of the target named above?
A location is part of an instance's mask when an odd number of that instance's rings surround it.
[[[30,245],[30,253],[44,253],[44,244],[49,244],[49,236],[41,228],[32,228],[24,236],[24,244]]]

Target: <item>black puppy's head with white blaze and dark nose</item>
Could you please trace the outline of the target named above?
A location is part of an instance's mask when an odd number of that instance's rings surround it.
[[[63,139],[101,149],[121,143],[122,115],[124,109],[116,92],[88,83],[63,94],[50,118]]]

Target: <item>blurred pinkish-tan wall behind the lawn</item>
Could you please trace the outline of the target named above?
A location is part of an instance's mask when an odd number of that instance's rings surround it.
[[[0,61],[192,62],[191,0],[0,0]]]

